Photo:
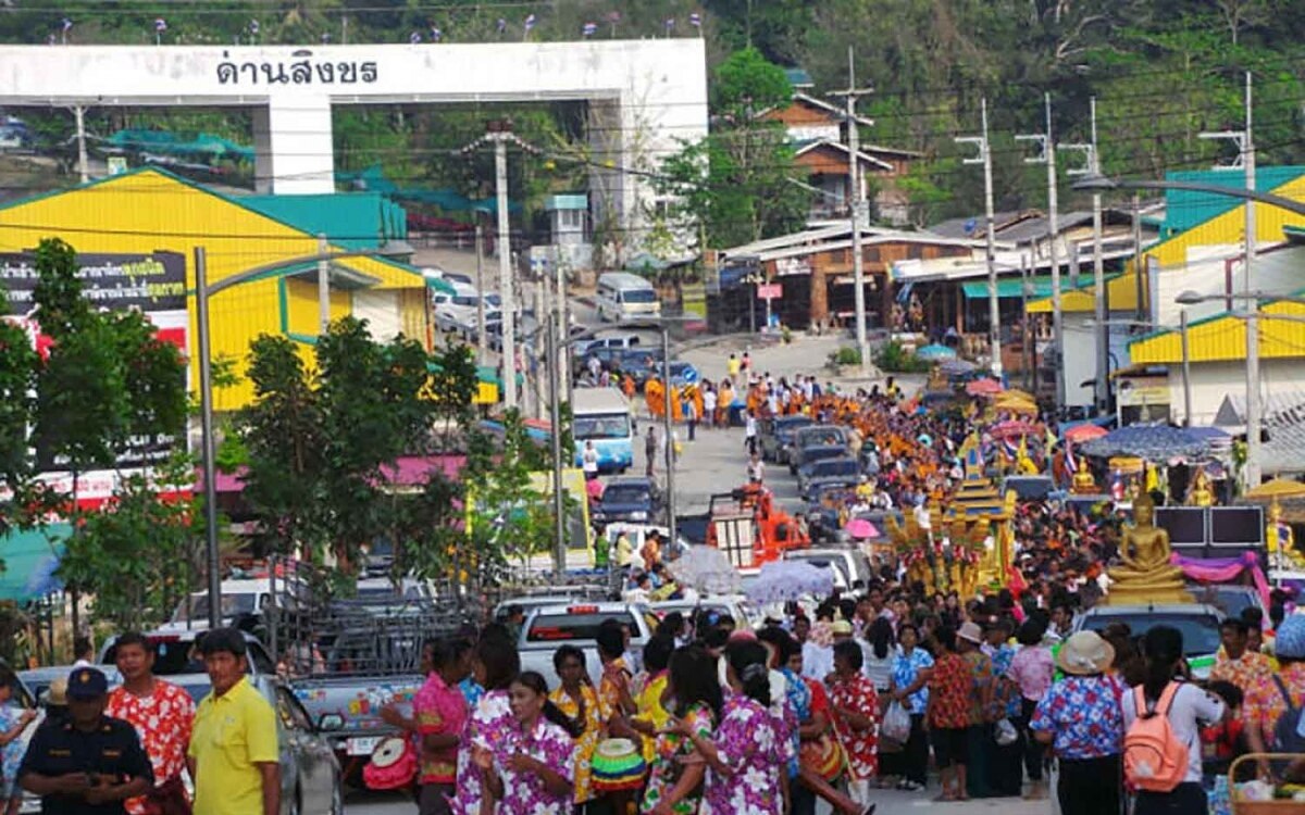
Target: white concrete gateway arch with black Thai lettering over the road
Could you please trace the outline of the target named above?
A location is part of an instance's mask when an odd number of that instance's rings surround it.
[[[645,176],[707,132],[701,38],[359,46],[4,46],[0,106],[254,110],[260,192],[334,190],[337,104],[589,99],[599,201],[637,239]]]

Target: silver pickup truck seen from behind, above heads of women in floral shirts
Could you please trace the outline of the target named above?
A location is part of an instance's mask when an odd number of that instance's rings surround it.
[[[649,606],[637,602],[574,602],[534,609],[521,626],[517,651],[522,670],[538,670],[549,686],[557,685],[553,653],[561,645],[576,645],[585,652],[585,669],[598,685],[603,662],[598,659],[595,636],[604,619],[616,619],[630,629],[630,651],[639,653],[656,629],[656,617]]]

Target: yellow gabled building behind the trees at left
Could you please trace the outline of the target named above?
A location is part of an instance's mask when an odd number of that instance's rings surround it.
[[[308,231],[157,168],[0,207],[0,253],[34,249],[46,237],[61,237],[80,254],[184,257],[188,338],[196,336],[196,248],[205,249],[210,283],[318,252],[318,239]],[[214,359],[236,360],[243,374],[249,343],[262,334],[290,336],[307,352],[318,333],[316,270],[309,263],[270,273],[214,296],[209,303]],[[361,257],[331,263],[331,318],[365,317],[378,338],[402,333],[428,346],[428,303],[423,275],[411,266]],[[192,359],[194,346],[188,342]],[[192,364],[191,376],[193,385],[197,365]],[[214,395],[214,407],[230,411],[251,398],[252,387],[241,377],[238,386]]]

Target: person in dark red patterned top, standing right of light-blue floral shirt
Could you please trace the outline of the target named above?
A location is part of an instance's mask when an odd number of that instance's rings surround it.
[[[975,678],[970,665],[957,653],[955,629],[944,626],[933,632],[933,639],[940,652],[929,678],[927,716],[933,756],[942,780],[942,794],[936,801],[966,801],[966,730],[970,728],[970,699]]]

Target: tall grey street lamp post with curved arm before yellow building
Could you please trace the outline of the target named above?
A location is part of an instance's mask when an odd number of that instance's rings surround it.
[[[358,252],[318,252],[304,257],[294,257],[273,263],[254,266],[234,275],[228,275],[217,283],[209,283],[207,256],[204,246],[194,248],[194,326],[198,336],[196,343],[200,352],[200,432],[204,438],[200,442],[201,468],[204,471],[204,540],[206,559],[209,566],[209,629],[222,626],[222,575],[221,554],[218,550],[218,488],[217,488],[217,454],[213,438],[213,351],[211,330],[209,326],[209,299],[228,288],[248,283],[274,271],[292,269],[307,263],[326,263],[331,261],[373,257],[385,258],[385,252],[358,250]],[[321,278],[318,278],[321,280]],[[322,329],[325,330],[325,327]]]

